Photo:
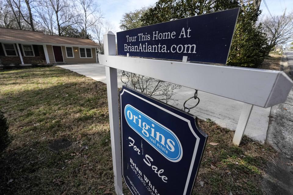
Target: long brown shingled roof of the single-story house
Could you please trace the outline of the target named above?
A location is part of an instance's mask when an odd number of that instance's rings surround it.
[[[68,45],[82,45],[97,47],[94,41],[90,39],[61,37],[55,35],[47,35],[43,32],[34,32],[28,30],[16,30],[9,28],[0,28],[0,40],[9,41],[26,41],[49,44],[68,44]]]

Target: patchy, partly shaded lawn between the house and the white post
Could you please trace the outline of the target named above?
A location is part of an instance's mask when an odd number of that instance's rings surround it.
[[[27,76],[20,81],[19,74]],[[0,107],[13,135],[0,158],[0,194],[114,190],[105,84],[55,67],[1,71],[0,79]],[[21,86],[5,84],[11,81]],[[74,145],[49,151],[60,138]]]

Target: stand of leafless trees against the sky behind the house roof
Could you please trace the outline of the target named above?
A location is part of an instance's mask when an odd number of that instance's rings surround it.
[[[0,0],[0,27],[5,28],[96,38],[97,30],[109,26],[102,16],[96,0]],[[99,25],[103,28],[96,29]]]

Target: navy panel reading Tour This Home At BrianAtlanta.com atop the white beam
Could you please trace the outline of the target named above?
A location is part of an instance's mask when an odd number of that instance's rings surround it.
[[[117,33],[118,55],[226,64],[239,8]]]

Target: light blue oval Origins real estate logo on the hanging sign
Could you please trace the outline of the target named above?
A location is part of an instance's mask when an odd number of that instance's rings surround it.
[[[129,104],[125,106],[124,114],[128,125],[165,158],[173,162],[181,160],[181,143],[170,129]]]

